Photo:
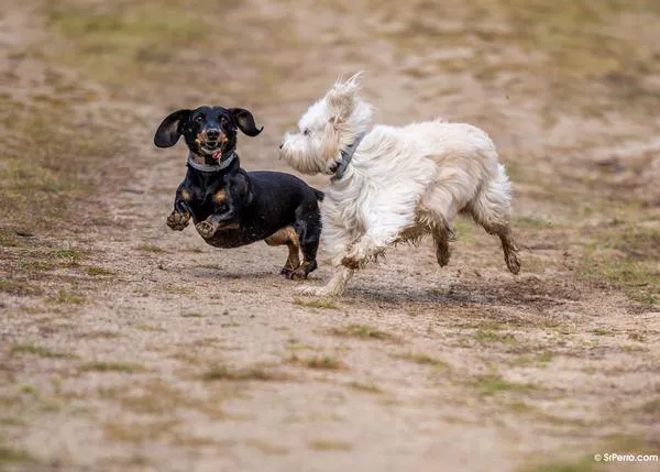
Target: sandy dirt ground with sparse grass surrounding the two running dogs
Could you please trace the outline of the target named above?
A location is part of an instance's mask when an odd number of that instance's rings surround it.
[[[0,1],[0,470],[630,471],[660,454],[654,1]],[[366,70],[378,122],[486,130],[522,271],[458,221],[337,300],[165,226],[161,119],[244,107],[248,169]],[[324,177],[305,177],[322,188]],[[310,283],[331,274],[323,255]]]

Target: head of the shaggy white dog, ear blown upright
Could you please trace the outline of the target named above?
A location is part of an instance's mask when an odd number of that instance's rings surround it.
[[[372,121],[372,107],[358,96],[358,73],[338,80],[326,97],[314,103],[298,122],[299,132],[287,133],[279,157],[304,174],[332,174],[350,146]]]

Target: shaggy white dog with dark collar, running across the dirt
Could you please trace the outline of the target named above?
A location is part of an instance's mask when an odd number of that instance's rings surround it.
[[[506,265],[517,274],[510,183],[488,135],[440,120],[369,130],[373,113],[358,96],[361,77],[339,80],[280,145],[280,157],[297,171],[332,175],[322,235],[338,271],[327,286],[299,292],[340,295],[354,270],[388,245],[425,234],[433,238],[440,266],[447,265],[450,223],[459,212],[499,237]]]

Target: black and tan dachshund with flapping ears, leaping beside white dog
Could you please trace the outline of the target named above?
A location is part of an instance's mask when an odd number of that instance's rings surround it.
[[[237,129],[256,136],[263,128],[241,108],[178,110],[163,120],[154,144],[170,147],[183,134],[189,149],[188,172],[167,226],[182,231],[193,218],[197,232],[217,248],[261,240],[286,244],[289,254],[282,274],[307,278],[317,268],[323,194],[290,174],[245,172],[235,152]]]

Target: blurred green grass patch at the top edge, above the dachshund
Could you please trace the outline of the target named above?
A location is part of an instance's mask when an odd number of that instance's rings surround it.
[[[204,1],[193,9],[150,0],[102,8],[63,1],[51,2],[46,14],[47,26],[68,41],[59,47],[63,62],[120,88],[127,80],[157,80],[157,73],[176,63],[186,46],[213,50],[212,35],[206,34],[219,24],[212,23],[212,13],[230,8]]]

